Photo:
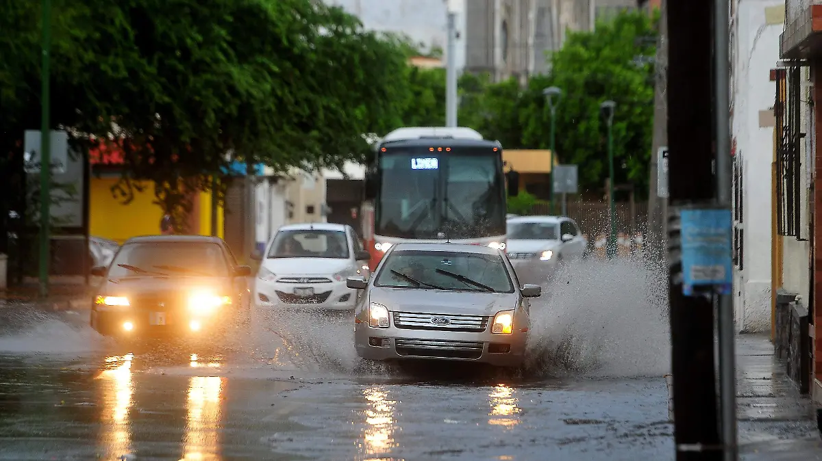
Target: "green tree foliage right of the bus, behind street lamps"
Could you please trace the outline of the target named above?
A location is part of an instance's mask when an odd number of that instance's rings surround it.
[[[653,130],[653,56],[658,15],[621,13],[600,22],[595,33],[571,32],[552,56],[549,75],[534,76],[523,89],[516,80],[487,84],[484,76],[461,80],[460,125],[471,126],[505,148],[550,148],[551,111],[543,89],[563,95],[556,107],[556,157],[580,166],[581,190],[603,187],[607,177],[607,130],[600,114],[606,100],[617,103],[613,117],[615,183],[648,187]]]

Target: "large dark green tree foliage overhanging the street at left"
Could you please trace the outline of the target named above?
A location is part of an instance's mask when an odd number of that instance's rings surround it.
[[[2,10],[0,152],[20,167],[40,125],[40,2]],[[339,166],[402,119],[396,43],[322,2],[54,0],[52,24],[52,128],[84,151],[117,144],[122,194],[153,180],[167,211],[230,160]]]

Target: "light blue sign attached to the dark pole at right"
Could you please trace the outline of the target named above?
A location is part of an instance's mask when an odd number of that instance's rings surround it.
[[[731,210],[682,210],[682,294],[732,292]]]

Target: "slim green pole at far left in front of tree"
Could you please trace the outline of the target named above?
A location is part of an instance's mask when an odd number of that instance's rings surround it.
[[[49,48],[51,48],[51,0],[43,0],[43,67],[40,70],[41,82],[40,104],[40,264],[39,264],[39,294],[48,296],[48,268],[51,264],[49,226],[51,225],[51,124],[48,71]]]

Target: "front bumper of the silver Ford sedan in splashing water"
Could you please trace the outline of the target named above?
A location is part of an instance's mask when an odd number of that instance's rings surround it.
[[[354,329],[357,354],[380,361],[427,358],[520,367],[527,341],[527,331],[495,335],[490,326],[482,333],[399,329],[393,323],[388,328],[358,323]]]

